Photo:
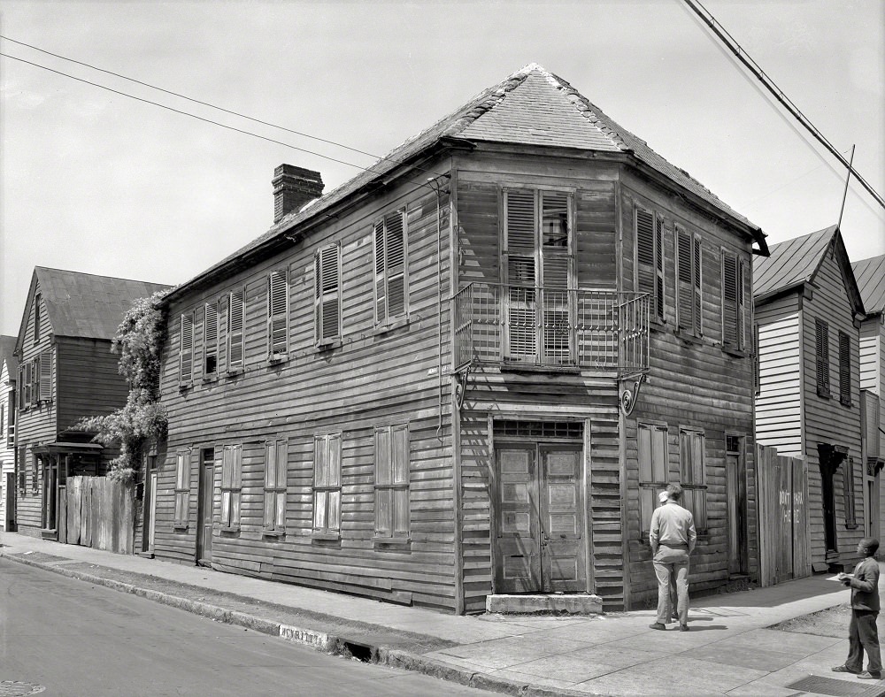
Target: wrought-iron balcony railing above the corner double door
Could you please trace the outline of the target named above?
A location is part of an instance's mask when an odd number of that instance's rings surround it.
[[[649,367],[649,295],[473,282],[451,301],[455,370],[525,364],[617,371]]]

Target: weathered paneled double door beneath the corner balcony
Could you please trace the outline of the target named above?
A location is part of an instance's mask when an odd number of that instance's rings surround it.
[[[496,448],[496,593],[587,590],[579,445]]]

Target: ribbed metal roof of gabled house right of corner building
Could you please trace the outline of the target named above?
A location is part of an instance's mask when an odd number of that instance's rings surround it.
[[[768,257],[753,257],[753,296],[773,295],[812,279],[837,226],[778,242]]]

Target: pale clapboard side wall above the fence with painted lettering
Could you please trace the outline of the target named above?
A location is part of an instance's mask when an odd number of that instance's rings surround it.
[[[797,295],[785,295],[759,307],[756,323],[756,438],[762,445],[777,448],[781,456],[804,456]]]

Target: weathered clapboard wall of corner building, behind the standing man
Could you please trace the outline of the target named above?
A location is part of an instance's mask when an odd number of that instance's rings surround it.
[[[653,322],[650,341],[650,372],[641,388],[631,417],[625,419],[624,477],[627,499],[624,545],[629,566],[630,605],[654,602],[658,583],[648,542],[642,539],[639,508],[637,424],[655,422],[668,429],[668,463],[672,481],[679,481],[679,429],[704,432],[707,531],[700,536],[691,562],[692,587],[716,586],[728,578],[728,520],[726,489],[726,435],[743,439],[748,485],[748,556],[750,574],[756,570],[758,536],[753,525],[753,379],[750,351],[722,348],[722,249],[738,255],[747,268],[745,298],[750,297],[750,241],[712,223],[687,206],[677,203],[629,173],[621,178],[620,227],[624,238],[623,282],[635,287],[635,209],[655,211],[664,219],[665,322]],[[676,331],[674,226],[701,237],[702,335],[682,336]],[[745,347],[750,341],[750,303],[745,305]],[[674,371],[673,366],[679,366]]]

